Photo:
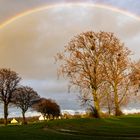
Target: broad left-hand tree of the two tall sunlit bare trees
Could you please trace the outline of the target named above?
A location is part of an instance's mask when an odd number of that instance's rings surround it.
[[[72,39],[59,53],[62,60],[60,74],[68,77],[72,85],[80,87],[82,94],[91,94],[95,117],[100,117],[99,91],[106,80],[103,62],[107,47],[112,45],[112,33],[86,32]]]

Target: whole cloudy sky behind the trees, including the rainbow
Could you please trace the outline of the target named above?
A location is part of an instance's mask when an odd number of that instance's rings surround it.
[[[81,110],[78,91],[68,93],[68,80],[58,79],[54,56],[73,36],[92,30],[114,32],[139,59],[139,7],[140,0],[0,0],[1,67],[61,109]]]

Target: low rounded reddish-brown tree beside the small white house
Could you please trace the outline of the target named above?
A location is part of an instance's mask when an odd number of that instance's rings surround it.
[[[32,108],[40,112],[44,118],[50,118],[51,116],[54,118],[60,116],[59,105],[51,99],[42,98],[33,104]]]

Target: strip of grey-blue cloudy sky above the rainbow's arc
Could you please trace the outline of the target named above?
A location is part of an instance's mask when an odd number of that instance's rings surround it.
[[[13,16],[33,8],[48,4],[59,4],[67,2],[100,3],[130,11],[140,15],[139,0],[0,0],[0,23]]]

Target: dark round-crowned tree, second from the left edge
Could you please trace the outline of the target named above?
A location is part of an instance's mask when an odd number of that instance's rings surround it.
[[[37,92],[28,86],[19,87],[13,93],[12,102],[22,110],[23,124],[27,124],[25,118],[26,111],[32,106],[33,102],[39,98]]]

